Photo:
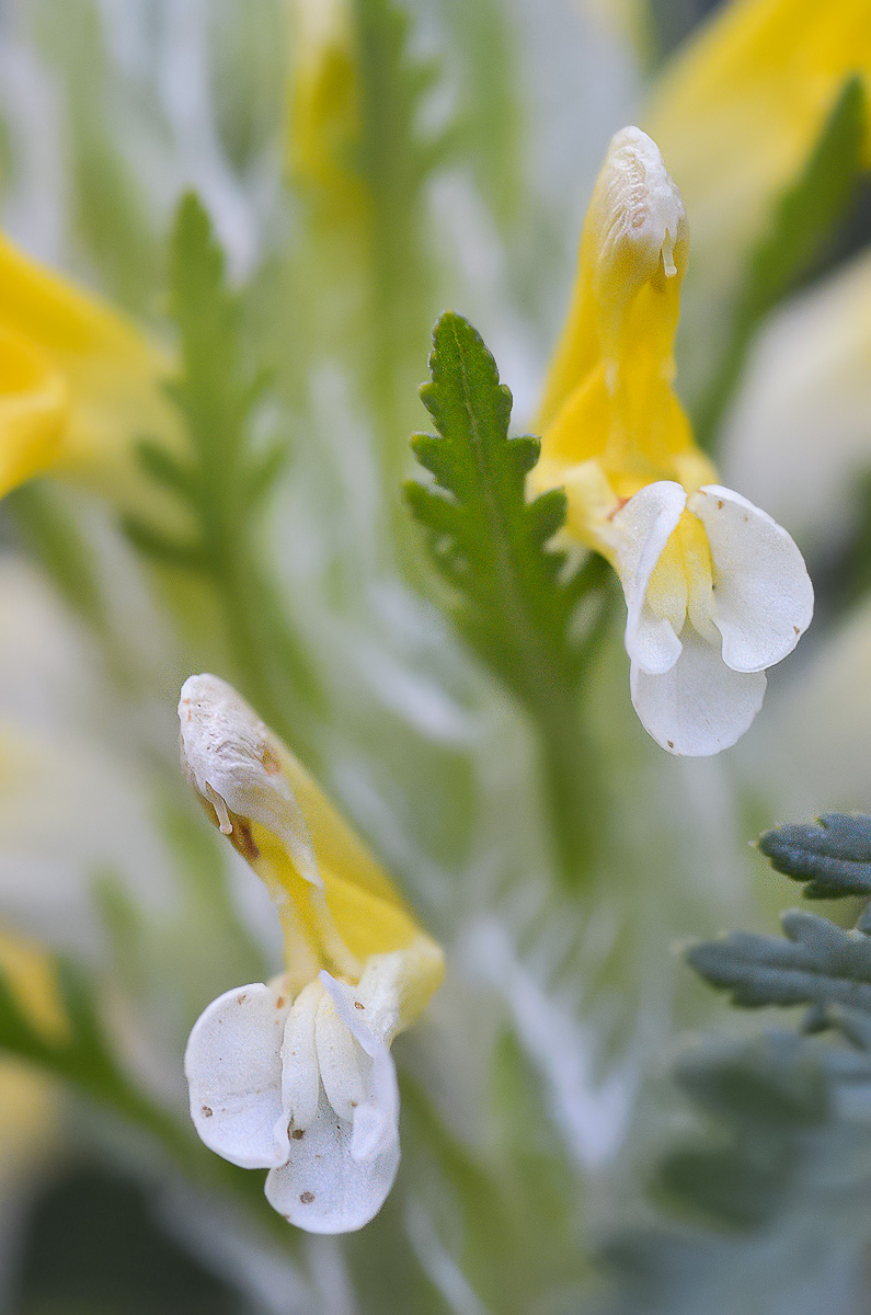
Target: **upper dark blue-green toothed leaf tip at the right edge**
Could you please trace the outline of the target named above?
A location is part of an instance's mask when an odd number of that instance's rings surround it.
[[[871,817],[826,813],[817,826],[775,827],[759,849],[776,872],[804,881],[809,899],[871,894]]]

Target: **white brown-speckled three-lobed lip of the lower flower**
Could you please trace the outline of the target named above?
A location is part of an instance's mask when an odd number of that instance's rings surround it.
[[[224,1159],[271,1170],[267,1198],[291,1223],[353,1231],[399,1165],[393,1063],[361,988],[322,973],[291,1002],[283,986],[242,986],[203,1013],[186,1052],[191,1116]]]

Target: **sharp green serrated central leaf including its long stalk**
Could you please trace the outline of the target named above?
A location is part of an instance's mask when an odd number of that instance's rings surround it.
[[[580,635],[574,622],[591,597],[604,615],[609,594],[601,573],[551,546],[564,494],[528,501],[539,442],[509,438],[510,392],[480,335],[453,310],[433,330],[430,373],[421,397],[438,434],[416,435],[413,450],[434,480],[409,484],[408,505],[450,586],[457,629],[538,729],[557,851],[576,881],[596,846],[578,689],[597,627]]]

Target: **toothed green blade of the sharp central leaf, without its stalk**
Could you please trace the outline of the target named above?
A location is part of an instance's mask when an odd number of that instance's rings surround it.
[[[539,442],[509,438],[512,396],[467,320],[436,325],[432,381],[421,389],[438,437],[413,439],[432,485],[411,483],[409,506],[454,590],[455,621],[507,685],[535,706],[542,682],[571,688],[580,671],[570,625],[578,573],[550,540],[566,519],[560,489],[526,500]]]

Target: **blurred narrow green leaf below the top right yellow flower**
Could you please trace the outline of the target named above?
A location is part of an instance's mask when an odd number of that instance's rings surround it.
[[[747,262],[717,373],[693,417],[709,447],[763,317],[809,271],[845,212],[864,168],[866,92],[849,78],[804,170],[783,192]]]

